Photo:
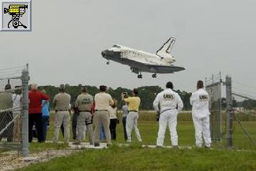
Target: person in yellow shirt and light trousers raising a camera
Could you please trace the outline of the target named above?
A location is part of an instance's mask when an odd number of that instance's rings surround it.
[[[138,142],[142,142],[140,132],[137,128],[138,110],[141,104],[141,99],[137,96],[137,88],[133,90],[133,97],[127,97],[123,93],[121,95],[122,101],[128,103],[128,116],[126,118],[126,133],[127,143],[131,143],[131,132],[134,128]]]

